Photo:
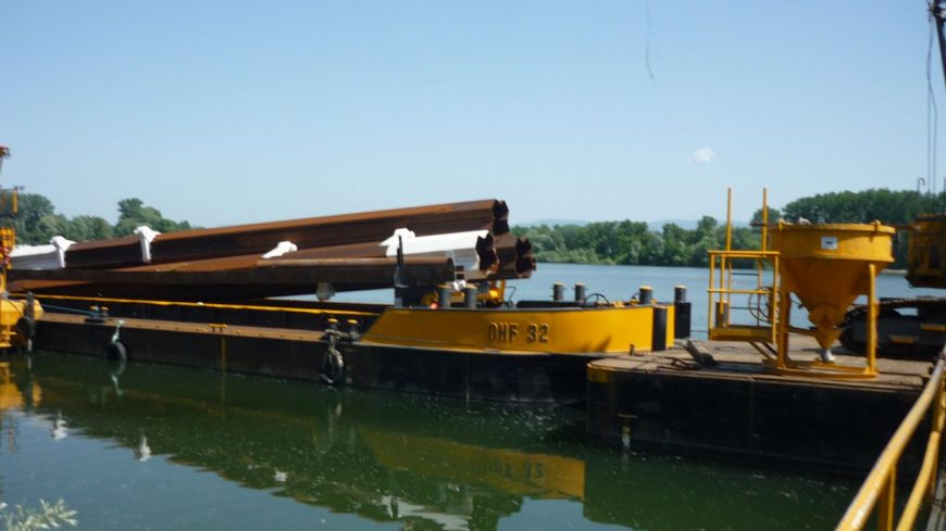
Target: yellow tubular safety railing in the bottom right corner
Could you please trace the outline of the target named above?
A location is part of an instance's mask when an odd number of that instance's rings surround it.
[[[838,530],[863,529],[874,509],[876,509],[877,514],[876,522],[879,530],[889,531],[897,529],[899,531],[912,529],[917,515],[924,503],[929,504],[933,500],[936,488],[936,469],[939,462],[939,438],[943,433],[944,418],[946,418],[946,415],[944,415],[946,404],[944,404],[943,392],[944,366],[946,366],[946,349],[939,353],[936,367],[933,369],[930,381],[926,383],[920,397],[917,399],[917,403],[913,404],[910,413],[900,422],[891,442],[887,443],[887,446],[881,453],[876,465],[874,465],[874,468],[854,498],[854,502],[847,508],[847,513],[844,514],[844,518],[842,518],[841,523],[837,526]],[[900,513],[900,519],[894,526],[897,464],[931,406],[933,407],[933,417],[923,464],[920,466],[917,480],[910,491],[910,497]]]

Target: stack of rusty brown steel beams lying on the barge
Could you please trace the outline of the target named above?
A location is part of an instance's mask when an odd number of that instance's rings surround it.
[[[76,243],[65,268],[11,271],[46,294],[245,300],[524,278],[532,245],[509,233],[503,201],[484,200]],[[274,248],[279,252],[269,253]],[[286,251],[288,248],[288,251]],[[264,257],[270,256],[272,257]]]

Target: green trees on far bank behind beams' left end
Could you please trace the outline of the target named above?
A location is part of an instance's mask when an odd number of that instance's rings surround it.
[[[146,225],[159,232],[189,229],[187,222],[165,219],[157,208],[146,206],[140,199],[119,201],[119,219],[115,225],[99,216],[67,218],[55,212],[52,202],[38,193],[20,194],[20,214],[13,222],[16,241],[37,245],[49,243],[50,238],[62,236],[73,241],[102,240],[128,236],[135,228]]]

